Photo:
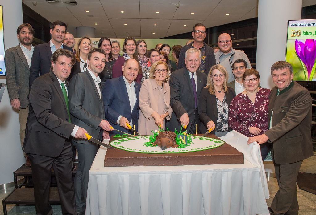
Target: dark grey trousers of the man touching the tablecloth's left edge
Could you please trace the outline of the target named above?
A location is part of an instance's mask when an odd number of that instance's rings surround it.
[[[73,141],[78,151],[78,167],[74,180],[76,209],[78,213],[86,211],[86,201],[89,182],[89,170],[95,155],[99,150],[99,145],[84,144]]]

